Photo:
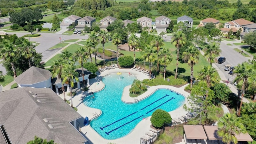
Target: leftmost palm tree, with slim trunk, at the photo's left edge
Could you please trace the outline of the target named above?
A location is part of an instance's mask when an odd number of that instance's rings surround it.
[[[0,48],[0,58],[5,60],[6,62],[10,62],[12,66],[13,77],[16,78],[17,74],[13,62],[16,60],[15,52],[17,51],[17,49],[10,42],[3,42],[3,45],[1,47],[2,48]]]

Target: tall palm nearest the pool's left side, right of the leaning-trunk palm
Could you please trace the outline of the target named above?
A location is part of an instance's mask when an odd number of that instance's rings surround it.
[[[66,64],[64,65],[64,68],[62,70],[62,84],[68,84],[69,85],[69,92],[70,92],[70,98],[71,98],[71,107],[73,108],[73,100],[72,100],[72,88],[74,87],[74,79],[76,82],[79,82],[77,78],[77,72],[75,72],[76,67],[73,66],[73,64]]]

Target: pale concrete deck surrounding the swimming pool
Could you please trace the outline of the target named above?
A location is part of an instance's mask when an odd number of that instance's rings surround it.
[[[102,77],[110,74],[110,73],[116,73],[116,72],[130,72],[132,75],[136,76],[138,80],[144,80],[148,79],[148,76],[142,72],[138,72],[136,70],[131,70],[131,69],[110,69],[110,70],[105,70],[101,73],[97,73],[98,76],[94,79],[90,79],[90,86],[89,90],[86,92],[82,92],[80,89],[76,90],[77,94],[76,96],[73,97],[73,106],[78,108],[78,113],[83,117],[77,120],[77,129],[81,131],[82,135],[88,140],[88,144],[107,144],[109,142],[114,142],[116,144],[139,144],[140,143],[140,138],[142,136],[145,136],[146,132],[149,132],[150,130],[150,117],[143,119],[140,121],[137,126],[126,136],[122,138],[118,138],[115,140],[106,140],[102,138],[90,125],[84,126],[84,118],[87,116],[89,120],[92,120],[96,118],[95,114],[98,116],[101,114],[101,110],[95,109],[95,108],[90,108],[88,106],[85,106],[82,103],[82,98],[86,94],[89,94],[90,92],[97,92],[100,91],[104,88],[104,83],[101,81]],[[185,85],[186,86],[186,85]],[[182,86],[181,88],[176,88],[173,86],[151,86],[148,87],[147,92],[144,94],[138,96],[138,100],[142,100],[146,97],[148,97],[150,94],[152,94],[156,89],[158,88],[169,88],[173,90],[174,92],[178,92],[185,97],[189,96],[189,93],[184,91],[184,87]],[[129,96],[129,88],[130,86],[126,86],[124,88],[124,92],[122,94],[122,101],[127,102],[127,103],[133,103],[135,102],[134,98],[131,98]],[[60,94],[60,98],[63,98],[63,95]],[[69,96],[66,96],[67,100],[70,100]],[[185,99],[185,104],[187,104],[187,100]],[[187,112],[183,109],[183,105],[177,108],[176,110],[169,112],[171,114],[172,118],[178,118],[180,116],[185,115]]]

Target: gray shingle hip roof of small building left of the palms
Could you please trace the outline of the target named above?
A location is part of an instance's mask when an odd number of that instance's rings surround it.
[[[17,84],[35,84],[48,80],[50,77],[51,72],[49,70],[32,66],[31,68],[14,78],[14,80]]]

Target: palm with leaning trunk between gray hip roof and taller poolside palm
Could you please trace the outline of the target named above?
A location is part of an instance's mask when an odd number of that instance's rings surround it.
[[[67,63],[67,60],[64,60],[62,58],[59,58],[58,60],[55,60],[52,62],[52,78],[56,78],[56,76],[58,76],[58,78],[61,80],[61,89],[64,95],[64,101],[66,102],[66,96],[65,96],[65,88],[64,88],[64,84],[63,79],[62,79],[62,69],[64,67],[64,65]]]

